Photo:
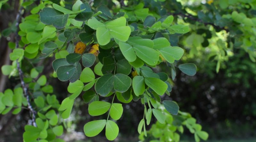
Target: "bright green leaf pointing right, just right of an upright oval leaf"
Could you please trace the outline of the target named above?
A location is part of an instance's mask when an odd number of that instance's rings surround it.
[[[163,95],[167,90],[167,84],[158,78],[145,78],[145,83],[153,89],[158,95]]]

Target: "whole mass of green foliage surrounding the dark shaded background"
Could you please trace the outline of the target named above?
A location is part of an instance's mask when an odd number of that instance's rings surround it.
[[[89,115],[97,116],[84,124],[85,136],[104,130],[114,140],[122,127],[117,122],[123,105],[139,102],[144,109],[137,127],[141,141],[178,142],[184,127],[196,142],[207,140],[208,133],[171,98],[174,80],[179,71],[194,76],[199,63],[199,71],[210,76],[225,68],[230,76],[239,64],[227,65],[232,57],[256,62],[256,1],[189,3],[21,0],[16,20],[1,31],[15,36],[8,43],[12,64],[3,65],[2,73],[20,78],[0,93],[1,114],[26,108],[31,121],[25,142],[62,142],[76,99],[82,98]],[[10,7],[8,0],[0,6],[1,11]],[[53,79],[68,86],[55,88],[49,84]],[[60,99],[60,89],[69,95]]]

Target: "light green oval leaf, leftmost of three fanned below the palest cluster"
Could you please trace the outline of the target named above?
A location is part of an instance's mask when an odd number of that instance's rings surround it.
[[[137,56],[131,45],[124,42],[119,42],[119,47],[127,61],[134,62],[136,60]]]

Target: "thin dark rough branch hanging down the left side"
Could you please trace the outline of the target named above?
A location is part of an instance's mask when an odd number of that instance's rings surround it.
[[[21,4],[23,3],[23,1],[21,2]],[[19,48],[19,41],[20,41],[20,36],[18,34],[19,31],[19,24],[20,24],[20,19],[21,19],[21,15],[22,15],[22,11],[23,11],[24,7],[21,6],[17,16],[16,16],[16,24],[15,26],[17,27],[17,31],[15,32],[15,48]],[[29,100],[29,94],[28,94],[28,88],[24,82],[24,74],[23,71],[20,68],[20,63],[18,62],[18,60],[16,60],[17,62],[17,69],[19,72],[19,76],[20,76],[20,83],[24,92],[24,96],[26,97],[27,101],[28,101],[28,109],[29,112],[32,114],[32,125],[36,127],[36,111],[32,108],[31,104],[30,104],[30,100]]]

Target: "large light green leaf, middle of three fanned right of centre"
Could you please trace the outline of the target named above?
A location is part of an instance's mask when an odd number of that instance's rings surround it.
[[[136,55],[149,65],[156,65],[159,59],[159,53],[146,46],[134,46],[133,47]]]

